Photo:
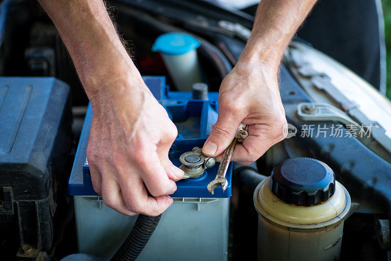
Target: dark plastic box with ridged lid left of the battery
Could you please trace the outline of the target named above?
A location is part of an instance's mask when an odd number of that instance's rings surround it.
[[[19,235],[37,254],[51,248],[56,186],[72,144],[71,125],[64,82],[0,77],[0,241]]]

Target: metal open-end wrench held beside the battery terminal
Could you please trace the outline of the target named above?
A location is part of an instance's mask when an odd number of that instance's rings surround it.
[[[225,191],[228,187],[228,181],[225,178],[225,174],[227,174],[228,166],[231,161],[232,153],[235,150],[235,146],[238,143],[238,139],[243,140],[247,133],[247,126],[244,124],[240,124],[239,130],[234,138],[234,140],[231,142],[231,144],[228,146],[227,149],[225,149],[223,153],[223,157],[221,158],[220,166],[218,167],[217,175],[214,180],[212,180],[208,186],[207,189],[210,194],[214,195],[214,190],[218,186],[221,186],[223,191]]]

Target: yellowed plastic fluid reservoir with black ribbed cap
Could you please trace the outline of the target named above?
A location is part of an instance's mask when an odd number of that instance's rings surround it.
[[[350,196],[325,163],[282,161],[255,189],[258,260],[339,260]]]

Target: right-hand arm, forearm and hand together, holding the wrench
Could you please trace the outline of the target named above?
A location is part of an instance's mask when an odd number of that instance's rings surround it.
[[[241,122],[249,125],[249,136],[235,147],[233,161],[254,162],[283,139],[286,119],[277,82],[278,68],[283,51],[315,2],[262,0],[258,5],[250,38],[237,65],[221,84],[218,119],[204,144],[204,154],[221,155]]]

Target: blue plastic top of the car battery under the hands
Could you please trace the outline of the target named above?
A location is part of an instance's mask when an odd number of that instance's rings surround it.
[[[152,94],[159,103],[167,110],[170,118],[178,129],[178,137],[170,149],[169,157],[175,166],[179,167],[179,156],[191,151],[194,147],[202,147],[212,125],[217,120],[218,93],[210,92],[209,100],[192,100],[191,92],[170,91],[166,86],[165,77],[147,76],[144,82],[150,88]],[[69,178],[69,194],[80,196],[97,195],[91,184],[88,162],[86,161],[88,134],[92,118],[92,109],[89,105],[79,146],[76,152],[72,173]],[[183,179],[176,182],[177,190],[173,197],[230,197],[232,182],[232,163],[229,166],[226,178],[228,188],[223,192],[221,187],[215,189],[215,195],[207,190],[207,185],[217,174],[217,163],[213,168],[195,179]]]

